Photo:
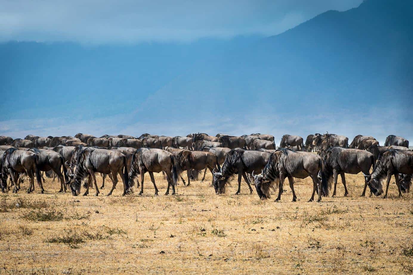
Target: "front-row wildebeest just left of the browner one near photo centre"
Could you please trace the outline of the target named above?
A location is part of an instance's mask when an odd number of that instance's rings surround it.
[[[133,187],[135,184],[133,179],[136,178],[137,174],[140,174],[141,186],[139,195],[142,195],[144,175],[145,172],[149,172],[149,176],[151,177],[151,181],[155,188],[155,195],[158,195],[159,190],[155,184],[153,173],[159,173],[161,171],[165,172],[166,180],[168,181],[168,188],[166,189],[165,195],[169,195],[170,186],[172,186],[172,195],[174,195],[178,174],[176,172],[175,157],[173,154],[162,149],[140,148],[132,156],[129,183],[131,187]]]

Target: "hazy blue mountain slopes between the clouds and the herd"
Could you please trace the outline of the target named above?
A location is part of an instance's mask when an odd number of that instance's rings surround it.
[[[413,139],[412,12],[411,1],[368,0],[268,38],[3,43],[0,132]]]

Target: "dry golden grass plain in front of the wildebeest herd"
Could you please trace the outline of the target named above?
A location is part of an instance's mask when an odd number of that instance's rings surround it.
[[[1,195],[2,273],[412,273],[412,195],[392,183],[387,199],[360,197],[363,175],[346,177],[350,197],[339,179],[339,197],[321,203],[307,202],[310,179],[295,179],[297,202],[288,183],[281,202],[244,182],[233,195],[235,181],[215,195],[210,174],[174,196],[157,174],[157,197],[148,174],[144,195],[126,197],[121,183],[111,197],[73,197],[50,179],[46,194],[26,194],[26,181]]]

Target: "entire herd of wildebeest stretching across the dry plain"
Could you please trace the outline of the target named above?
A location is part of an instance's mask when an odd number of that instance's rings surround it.
[[[336,195],[337,177],[340,175],[344,185],[344,196],[349,195],[345,174],[363,173],[365,185],[372,194],[383,193],[382,181],[387,179],[385,197],[391,176],[394,175],[399,196],[409,192],[413,177],[413,152],[409,150],[409,141],[389,135],[384,146],[373,136],[355,136],[349,144],[346,136],[336,134],[311,134],[305,143],[301,136],[284,135],[280,146],[275,145],[274,136],[268,134],[250,134],[230,136],[198,133],[182,136],[158,136],[142,134],[139,137],[128,135],[103,135],[95,137],[78,133],[73,136],[33,136],[24,139],[12,139],[0,136],[0,178],[2,192],[12,188],[13,193],[20,190],[20,183],[29,180],[27,193],[35,190],[34,178],[44,193],[44,176],[59,179],[59,192],[70,188],[73,195],[81,194],[81,186],[88,195],[89,188],[104,188],[107,176],[112,181],[111,195],[118,183],[118,175],[123,183],[123,195],[133,192],[135,184],[143,193],[144,175],[148,172],[154,185],[155,195],[158,188],[154,172],[162,172],[168,181],[165,195],[176,193],[179,180],[189,186],[191,179],[207,170],[213,175],[211,185],[216,194],[225,193],[228,181],[237,175],[240,193],[242,178],[251,185],[261,199],[270,198],[270,191],[278,189],[280,200],[283,184],[288,179],[294,192],[294,178],[310,177],[313,181],[313,193],[309,201],[322,196]],[[372,172],[370,172],[372,169]],[[186,171],[187,181],[182,174]],[[95,173],[100,173],[103,183],[97,186]],[[140,175],[140,181],[138,179]],[[137,181],[137,183],[135,183]]]

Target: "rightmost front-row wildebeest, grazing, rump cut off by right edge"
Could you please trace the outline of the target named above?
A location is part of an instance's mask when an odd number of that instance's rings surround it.
[[[377,165],[368,179],[368,187],[370,187],[374,195],[380,196],[383,193],[382,181],[387,177],[386,193],[384,196],[387,197],[390,179],[392,175],[394,175],[397,188],[399,189],[399,197],[401,197],[399,174],[413,174],[413,152],[389,149],[384,152],[380,156],[380,160],[377,161]]]

